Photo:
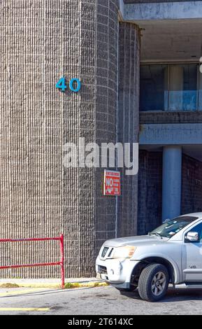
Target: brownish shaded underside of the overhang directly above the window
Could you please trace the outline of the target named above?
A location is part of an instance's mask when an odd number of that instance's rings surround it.
[[[139,22],[142,62],[199,62],[202,56],[202,18]]]

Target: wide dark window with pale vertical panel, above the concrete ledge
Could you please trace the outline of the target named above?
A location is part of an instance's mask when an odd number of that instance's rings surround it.
[[[198,85],[198,74],[198,64],[141,65],[140,111],[201,109],[202,91],[200,81]]]

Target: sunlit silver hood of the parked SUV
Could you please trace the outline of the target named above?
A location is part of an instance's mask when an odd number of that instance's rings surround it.
[[[164,241],[168,241],[168,238],[161,239],[157,236],[141,235],[138,237],[120,237],[117,239],[110,239],[105,241],[104,246],[119,247],[119,246],[139,246],[141,244],[161,244]]]

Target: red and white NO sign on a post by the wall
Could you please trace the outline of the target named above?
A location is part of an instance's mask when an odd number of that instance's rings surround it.
[[[104,171],[103,195],[121,195],[120,172]]]

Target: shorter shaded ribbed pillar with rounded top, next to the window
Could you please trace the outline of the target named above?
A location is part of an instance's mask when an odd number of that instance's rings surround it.
[[[121,22],[119,31],[118,141],[138,143],[140,29]],[[136,159],[138,161],[138,159]],[[136,235],[138,175],[122,172],[122,196],[118,201],[118,235]]]

